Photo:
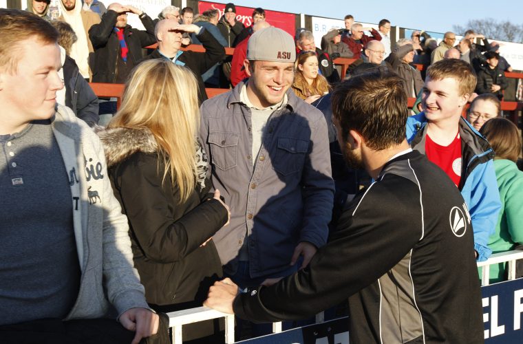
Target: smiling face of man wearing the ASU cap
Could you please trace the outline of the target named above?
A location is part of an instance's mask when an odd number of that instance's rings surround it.
[[[244,66],[249,74],[247,94],[256,107],[265,108],[281,102],[294,80],[292,62],[254,61],[251,65],[245,60]]]

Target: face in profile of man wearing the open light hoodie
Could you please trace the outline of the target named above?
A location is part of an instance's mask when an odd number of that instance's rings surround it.
[[[16,71],[0,72],[0,103],[3,112],[10,114],[17,123],[12,127],[25,126],[32,120],[51,118],[54,115],[56,91],[63,88],[58,76],[61,61],[56,43],[43,45],[32,38],[18,44],[21,50]],[[10,122],[14,123],[13,120]]]

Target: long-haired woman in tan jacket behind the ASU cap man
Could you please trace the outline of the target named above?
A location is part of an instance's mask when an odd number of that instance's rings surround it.
[[[292,90],[309,104],[329,93],[327,79],[318,70],[318,56],[315,52],[303,51],[297,56]]]

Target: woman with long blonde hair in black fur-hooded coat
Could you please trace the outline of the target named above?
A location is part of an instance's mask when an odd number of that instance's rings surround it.
[[[222,275],[211,237],[230,214],[220,191],[207,194],[199,126],[193,73],[155,59],[136,67],[100,133],[147,302],[162,312],[202,305],[211,279]]]

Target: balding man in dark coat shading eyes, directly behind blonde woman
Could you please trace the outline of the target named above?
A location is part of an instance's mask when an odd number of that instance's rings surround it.
[[[205,52],[180,50],[183,32],[195,34],[205,48]],[[202,74],[216,63],[222,61],[225,49],[216,41],[213,35],[197,25],[180,25],[174,19],[159,21],[155,29],[158,48],[145,59],[164,58],[176,65],[184,65],[191,69],[198,80],[198,101],[200,104],[207,99]]]

